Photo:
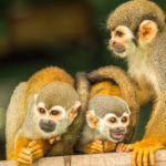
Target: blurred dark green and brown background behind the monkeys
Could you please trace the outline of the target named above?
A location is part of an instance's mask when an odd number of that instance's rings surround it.
[[[4,116],[15,85],[35,71],[58,65],[74,75],[103,65],[127,69],[107,50],[108,13],[124,0],[0,0],[0,159],[4,159]],[[156,0],[164,10],[166,3]],[[139,139],[151,104],[141,108]]]

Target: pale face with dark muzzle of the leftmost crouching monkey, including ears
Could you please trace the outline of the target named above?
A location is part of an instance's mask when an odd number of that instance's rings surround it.
[[[48,137],[63,134],[75,118],[79,106],[80,102],[75,102],[74,106],[66,111],[62,106],[46,108],[44,103],[39,103],[35,113],[39,117],[38,127],[41,133]]]

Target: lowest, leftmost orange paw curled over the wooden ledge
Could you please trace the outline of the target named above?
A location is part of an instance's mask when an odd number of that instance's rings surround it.
[[[32,155],[28,148],[22,148],[18,154],[17,166],[31,166],[32,165]]]

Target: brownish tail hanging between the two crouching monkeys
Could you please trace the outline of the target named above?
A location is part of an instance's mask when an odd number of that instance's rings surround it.
[[[71,155],[72,149],[80,138],[80,132],[82,131],[85,122],[85,112],[87,110],[87,100],[90,92],[90,83],[85,73],[77,73],[75,80],[76,91],[80,97],[81,107],[74,122],[69,126],[68,133],[62,135],[62,139],[49,152],[48,156],[56,155]]]

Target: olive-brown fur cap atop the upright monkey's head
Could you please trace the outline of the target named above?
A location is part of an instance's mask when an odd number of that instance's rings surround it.
[[[147,0],[133,0],[110,14],[107,27],[114,30],[118,25],[126,25],[135,32],[143,20],[154,20],[159,30],[165,25],[165,14],[157,4]]]

